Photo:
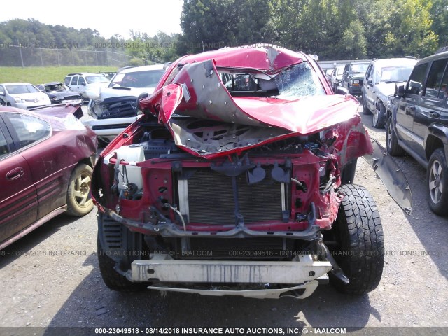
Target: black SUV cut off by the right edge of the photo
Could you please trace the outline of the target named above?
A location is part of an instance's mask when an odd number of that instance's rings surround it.
[[[426,167],[431,210],[448,215],[448,52],[417,62],[387,115],[387,151]]]

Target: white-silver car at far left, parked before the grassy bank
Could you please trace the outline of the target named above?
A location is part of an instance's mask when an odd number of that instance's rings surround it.
[[[0,103],[24,110],[51,105],[50,98],[30,83],[0,84]]]

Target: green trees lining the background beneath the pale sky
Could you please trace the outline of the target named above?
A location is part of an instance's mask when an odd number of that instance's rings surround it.
[[[325,59],[426,57],[448,45],[447,0],[184,0],[182,34],[130,31],[106,39],[92,29],[0,22],[3,45],[97,50],[113,47],[130,65],[255,43],[280,45]],[[8,54],[4,54],[8,57]]]

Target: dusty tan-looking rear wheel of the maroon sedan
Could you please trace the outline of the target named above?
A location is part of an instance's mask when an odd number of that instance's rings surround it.
[[[90,196],[90,181],[92,167],[80,164],[73,169],[67,190],[67,214],[70,216],[84,216],[93,208]]]

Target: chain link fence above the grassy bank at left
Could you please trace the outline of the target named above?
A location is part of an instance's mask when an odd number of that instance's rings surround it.
[[[126,66],[132,58],[107,48],[79,50],[0,43],[0,66]],[[75,47],[75,48],[73,48]]]

